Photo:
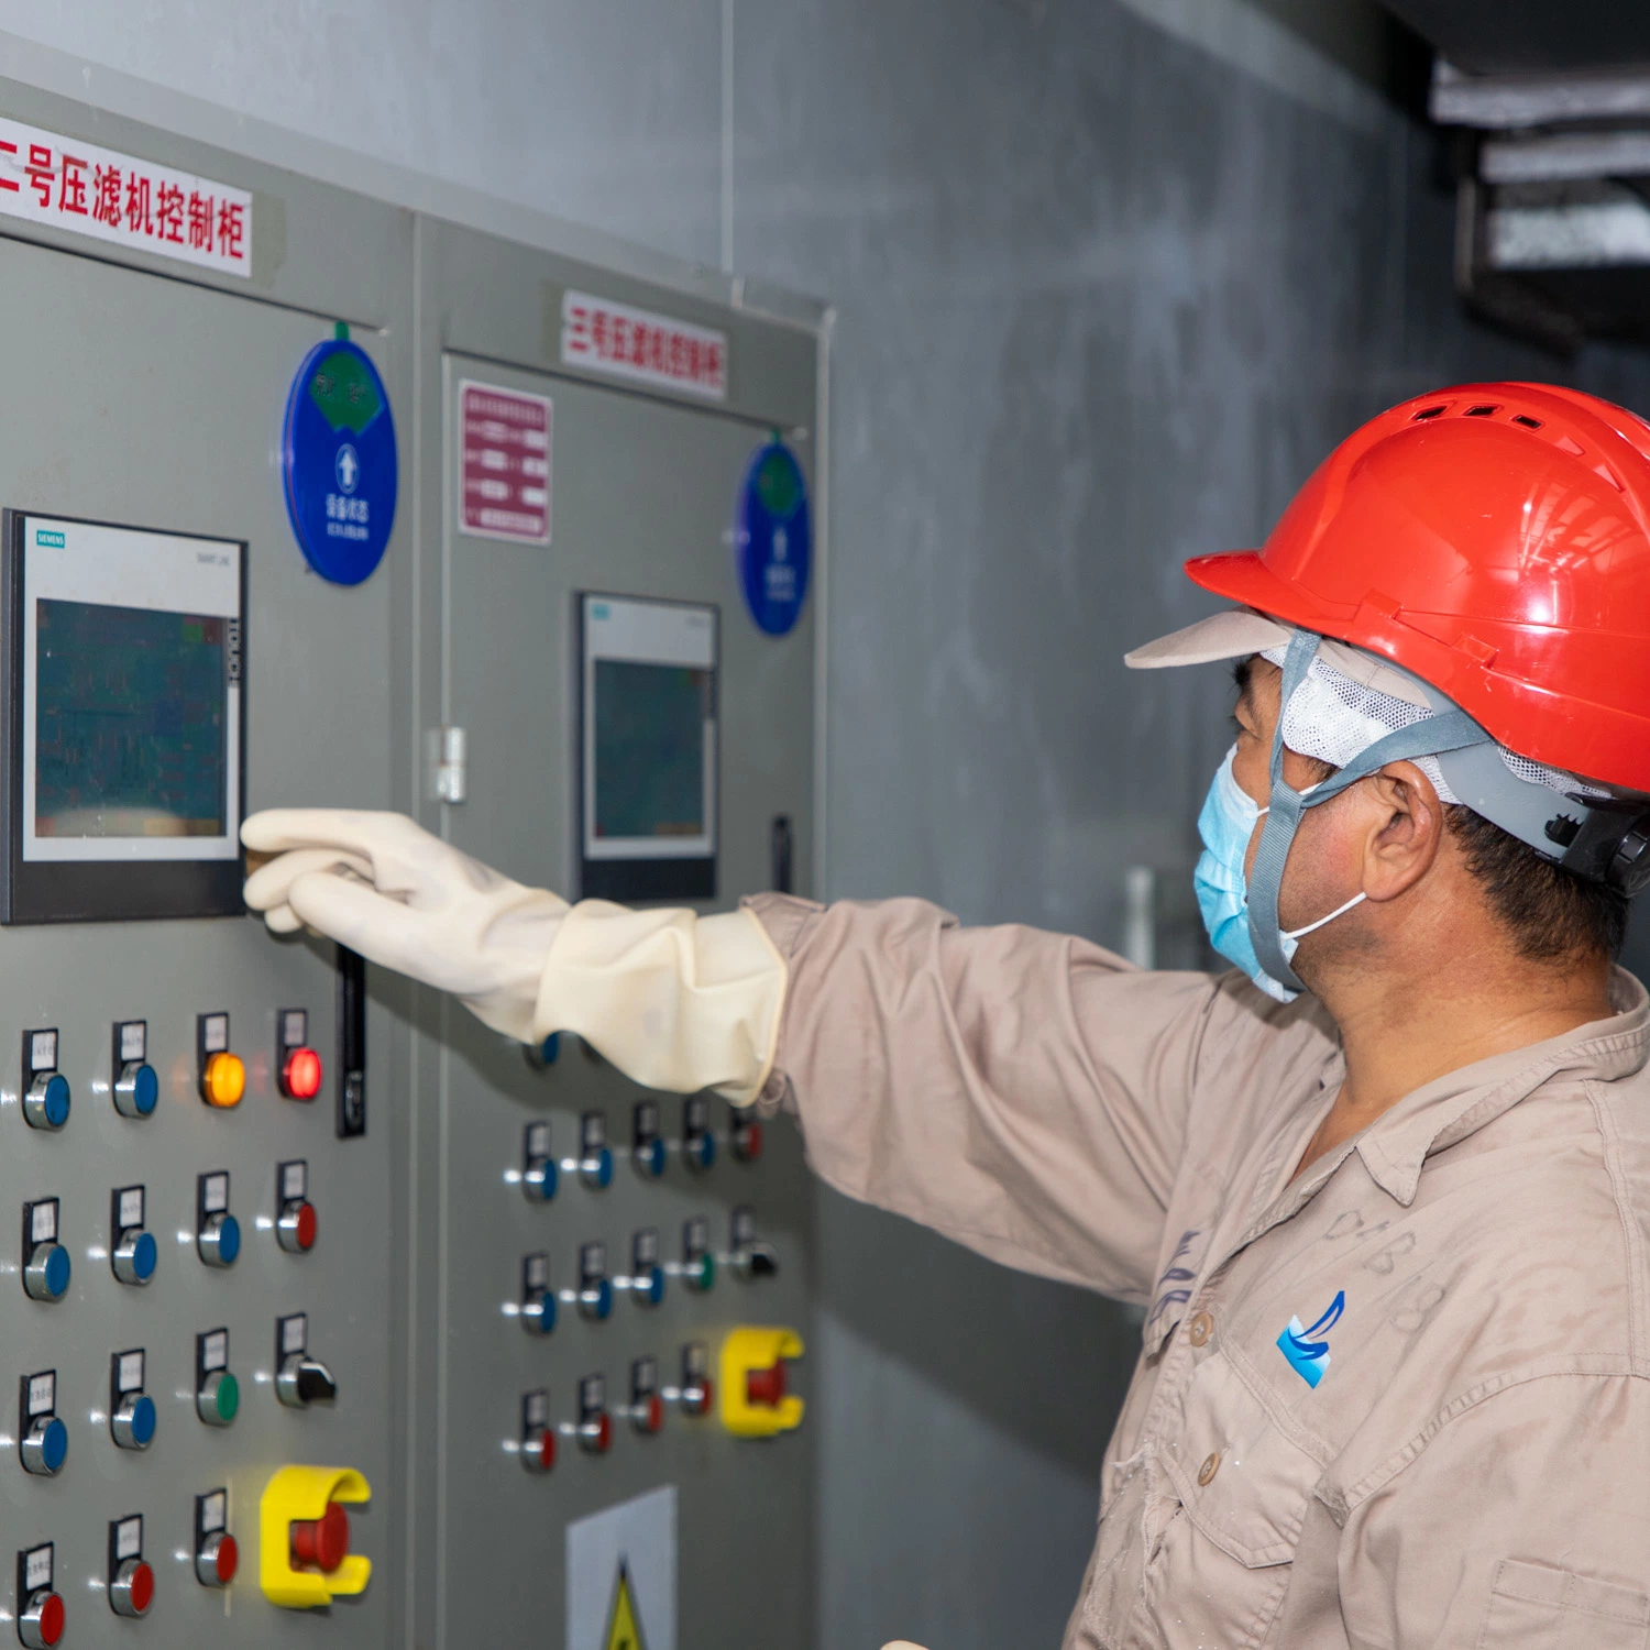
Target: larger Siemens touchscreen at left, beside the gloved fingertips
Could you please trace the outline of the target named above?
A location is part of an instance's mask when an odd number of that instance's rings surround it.
[[[246,546],[7,512],[0,921],[241,906]]]

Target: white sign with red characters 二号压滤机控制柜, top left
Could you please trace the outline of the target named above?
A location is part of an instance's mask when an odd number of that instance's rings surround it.
[[[228,276],[252,272],[246,190],[3,117],[0,214]]]

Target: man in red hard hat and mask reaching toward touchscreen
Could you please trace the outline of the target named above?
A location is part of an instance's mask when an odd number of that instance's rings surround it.
[[[1068,1650],[1650,1642],[1650,426],[1393,408],[1239,604],[1218,977],[919,899],[566,906],[409,820],[248,820],[248,883],[521,1040],[785,1106],[813,1168],[1145,1307]]]

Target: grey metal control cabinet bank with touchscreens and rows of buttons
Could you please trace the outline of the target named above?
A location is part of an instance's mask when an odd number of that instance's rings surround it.
[[[111,219],[150,165],[248,216]],[[795,1130],[272,937],[236,832],[807,893],[813,606],[747,606],[736,500],[822,485],[817,333],[13,82],[0,284],[0,1642],[808,1643]],[[327,340],[399,457],[358,582],[284,470]]]

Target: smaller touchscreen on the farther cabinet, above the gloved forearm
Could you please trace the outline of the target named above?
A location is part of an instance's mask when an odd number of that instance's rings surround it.
[[[586,898],[716,893],[716,609],[582,596]]]

